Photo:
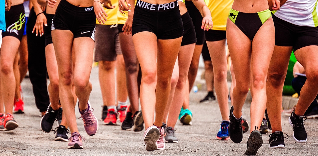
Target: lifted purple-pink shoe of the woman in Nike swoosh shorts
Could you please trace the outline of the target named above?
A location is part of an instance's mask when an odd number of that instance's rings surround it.
[[[83,119],[85,131],[89,136],[95,135],[98,129],[98,120],[94,116],[93,111],[94,109],[91,108],[89,101],[87,103],[87,109],[83,111],[79,110],[79,113],[81,114],[79,119]]]

